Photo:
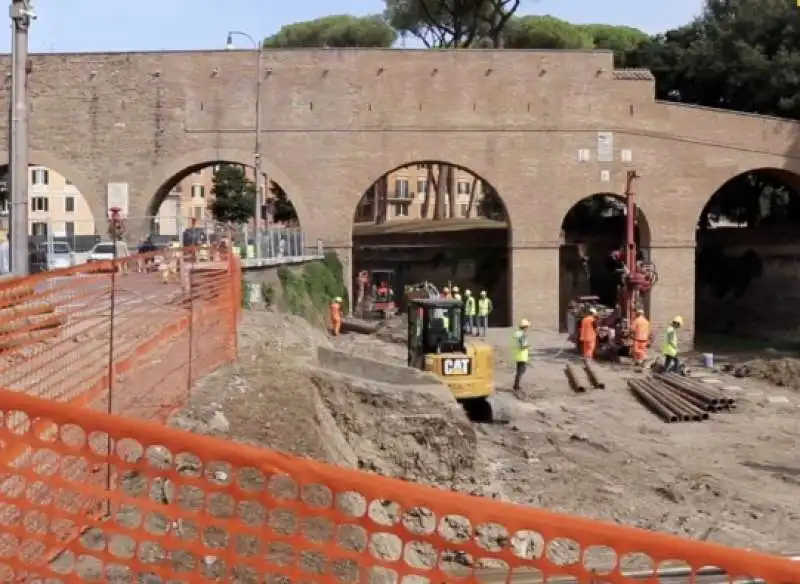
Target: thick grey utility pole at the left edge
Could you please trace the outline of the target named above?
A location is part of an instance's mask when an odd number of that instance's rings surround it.
[[[28,258],[28,31],[36,18],[29,0],[12,0],[11,32],[11,127],[9,171],[11,175],[11,222],[9,255],[11,273],[25,276]]]

